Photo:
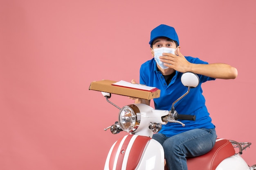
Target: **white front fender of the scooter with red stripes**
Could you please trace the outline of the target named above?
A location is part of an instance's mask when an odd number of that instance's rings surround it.
[[[164,150],[150,137],[126,135],[112,145],[104,170],[164,169]]]

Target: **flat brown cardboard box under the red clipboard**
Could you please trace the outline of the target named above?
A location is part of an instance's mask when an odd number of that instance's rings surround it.
[[[128,87],[120,87],[112,85],[112,83],[116,83],[116,81],[111,80],[101,80],[101,81],[93,81],[90,84],[89,90],[96,90],[99,92],[108,92],[112,94],[119,94],[122,96],[130,96],[135,98],[143,98],[143,99],[153,99],[159,98],[160,90],[157,89],[155,92],[149,92],[140,89],[132,89]]]

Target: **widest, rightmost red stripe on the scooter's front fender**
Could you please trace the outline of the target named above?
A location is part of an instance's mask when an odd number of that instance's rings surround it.
[[[144,151],[144,148],[150,139],[150,137],[146,136],[138,136],[135,139],[130,150],[126,170],[135,170]]]

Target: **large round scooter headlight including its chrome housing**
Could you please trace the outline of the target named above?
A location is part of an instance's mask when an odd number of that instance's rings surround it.
[[[136,105],[124,106],[119,111],[118,122],[123,131],[135,131],[138,128],[140,122],[139,108]]]

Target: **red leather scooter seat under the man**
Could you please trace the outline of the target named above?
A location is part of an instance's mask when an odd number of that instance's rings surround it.
[[[217,139],[213,148],[199,157],[188,158],[189,170],[215,170],[222,160],[235,154],[231,142],[227,139]]]

